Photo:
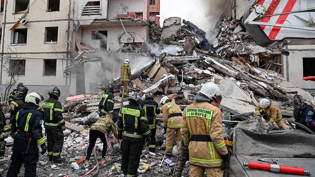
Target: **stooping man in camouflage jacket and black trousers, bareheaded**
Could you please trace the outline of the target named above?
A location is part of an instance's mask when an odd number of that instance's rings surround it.
[[[106,136],[108,136],[108,130],[112,130],[114,136],[118,139],[117,136],[117,129],[116,125],[113,122],[113,116],[110,116],[109,114],[106,114],[105,116],[102,116],[95,124],[93,124],[90,128],[90,133],[89,133],[89,147],[86,152],[86,160],[84,162],[84,167],[89,166],[89,160],[91,157],[91,153],[93,151],[93,148],[95,146],[95,142],[98,138],[103,143],[103,151],[102,151],[102,161],[105,161],[106,158],[106,152],[107,152],[107,142],[106,142]]]

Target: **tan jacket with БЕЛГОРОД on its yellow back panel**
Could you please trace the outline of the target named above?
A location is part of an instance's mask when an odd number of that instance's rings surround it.
[[[183,113],[180,129],[189,148],[189,163],[202,167],[220,167],[221,155],[228,153],[222,133],[222,113],[209,102],[195,102]]]

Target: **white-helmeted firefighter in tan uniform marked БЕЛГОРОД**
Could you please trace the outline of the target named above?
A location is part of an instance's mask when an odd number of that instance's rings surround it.
[[[222,113],[218,86],[208,82],[196,95],[195,103],[183,113],[180,132],[189,149],[189,176],[223,177],[223,170],[230,166],[230,156],[222,133]]]

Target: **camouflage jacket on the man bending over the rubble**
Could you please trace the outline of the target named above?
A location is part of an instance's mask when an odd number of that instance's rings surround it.
[[[97,122],[95,122],[90,130],[99,130],[107,135],[107,131],[109,129],[112,129],[114,136],[118,138],[116,125],[113,122],[111,116],[107,114],[105,116],[102,116]]]

